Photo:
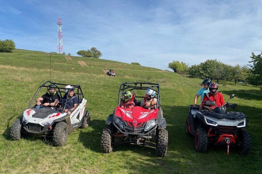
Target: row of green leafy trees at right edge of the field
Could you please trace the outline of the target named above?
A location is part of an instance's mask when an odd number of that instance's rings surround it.
[[[188,74],[199,78],[209,78],[211,80],[219,80],[234,82],[235,84],[245,83],[251,85],[262,85],[262,52],[259,55],[251,53],[250,65],[240,66],[239,64],[232,66],[218,61],[217,59],[208,59],[197,65],[189,67],[184,62],[173,61],[168,64],[175,73]]]

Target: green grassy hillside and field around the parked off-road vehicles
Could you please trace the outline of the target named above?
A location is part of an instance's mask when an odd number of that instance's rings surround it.
[[[157,63],[157,62],[156,62]],[[247,115],[246,128],[252,151],[242,156],[226,147],[211,146],[207,152],[194,150],[193,138],[184,124],[202,79],[182,77],[173,72],[109,61],[64,55],[50,56],[40,51],[16,49],[0,53],[0,173],[262,173],[262,98],[259,87],[219,82],[225,100],[231,94],[238,103],[234,111]],[[116,77],[106,75],[114,69]],[[46,140],[26,137],[10,140],[10,127],[45,81],[81,84],[91,125],[70,133],[65,146],[53,147]],[[100,148],[105,120],[117,106],[122,82],[160,83],[161,106],[169,133],[167,155],[155,156],[154,149],[120,145],[104,154]],[[200,102],[200,99],[198,103]],[[232,109],[233,110],[233,109]]]

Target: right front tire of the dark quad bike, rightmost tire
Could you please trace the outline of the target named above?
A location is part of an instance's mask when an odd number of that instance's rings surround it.
[[[240,131],[239,142],[237,144],[237,150],[242,155],[248,155],[251,151],[251,137],[245,130]]]

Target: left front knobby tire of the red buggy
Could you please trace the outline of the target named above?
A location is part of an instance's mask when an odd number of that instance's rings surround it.
[[[103,129],[102,138],[101,138],[101,149],[104,153],[109,153],[112,151],[112,135],[113,135],[113,126],[108,125]]]

